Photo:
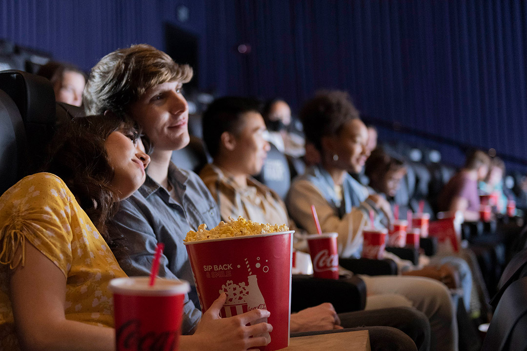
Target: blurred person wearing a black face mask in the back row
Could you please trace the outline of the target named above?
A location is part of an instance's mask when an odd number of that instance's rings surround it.
[[[304,138],[290,132],[291,108],[280,99],[269,101],[262,112],[269,132],[268,140],[286,155],[300,157],[304,155]]]

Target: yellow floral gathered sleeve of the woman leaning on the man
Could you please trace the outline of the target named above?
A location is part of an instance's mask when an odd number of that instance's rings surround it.
[[[72,262],[72,213],[77,208],[70,190],[53,174],[37,173],[20,180],[0,197],[0,263],[12,269],[23,266],[28,240],[67,277]],[[15,256],[17,249],[22,255]]]

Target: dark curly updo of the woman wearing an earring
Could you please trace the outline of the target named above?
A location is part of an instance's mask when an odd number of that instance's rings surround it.
[[[306,140],[322,151],[322,137],[337,135],[346,122],[359,118],[359,113],[348,93],[320,91],[304,103],[299,116]]]

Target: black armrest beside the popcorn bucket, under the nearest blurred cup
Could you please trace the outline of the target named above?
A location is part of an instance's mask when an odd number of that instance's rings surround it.
[[[355,275],[339,279],[294,274],[291,279],[291,312],[322,303],[333,304],[337,313],[362,310],[366,306],[366,285]]]

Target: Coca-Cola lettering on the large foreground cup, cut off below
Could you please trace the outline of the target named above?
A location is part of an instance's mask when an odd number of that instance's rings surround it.
[[[130,319],[115,330],[118,350],[174,350],[178,342],[178,330],[147,332],[141,334],[141,320]]]

